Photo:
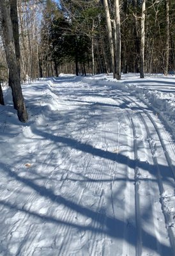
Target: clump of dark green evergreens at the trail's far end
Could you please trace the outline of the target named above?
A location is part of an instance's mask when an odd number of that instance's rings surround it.
[[[89,60],[91,37],[89,29],[82,23],[88,19],[89,12],[83,6],[70,4],[61,8],[52,0],[47,0],[42,20],[42,63],[45,70],[52,65],[54,74],[63,63],[74,63],[75,74],[86,74],[86,63]],[[84,22],[85,23],[85,22]],[[91,24],[90,24],[91,26]],[[83,28],[83,30],[82,30]],[[88,32],[87,32],[88,31]]]

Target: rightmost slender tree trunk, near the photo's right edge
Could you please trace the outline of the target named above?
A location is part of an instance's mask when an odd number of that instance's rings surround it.
[[[165,69],[164,75],[167,76],[169,68],[169,0],[166,0],[166,46],[165,46]]]

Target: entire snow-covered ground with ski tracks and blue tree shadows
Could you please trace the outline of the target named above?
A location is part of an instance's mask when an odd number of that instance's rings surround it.
[[[23,92],[27,124],[0,106],[0,255],[175,255],[175,77]]]

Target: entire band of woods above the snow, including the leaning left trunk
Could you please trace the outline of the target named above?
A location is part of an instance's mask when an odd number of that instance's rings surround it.
[[[174,9],[172,0],[0,1],[0,84],[10,85],[19,119],[27,120],[21,81],[174,72]]]

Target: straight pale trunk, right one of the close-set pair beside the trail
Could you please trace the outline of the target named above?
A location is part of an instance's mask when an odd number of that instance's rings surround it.
[[[119,0],[114,1],[115,20],[116,20],[116,79],[121,79],[121,31],[120,31],[120,15]]]

